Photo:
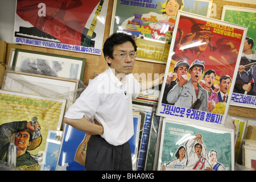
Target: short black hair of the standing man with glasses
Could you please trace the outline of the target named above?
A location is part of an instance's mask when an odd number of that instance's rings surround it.
[[[103,53],[104,57],[109,56],[110,58],[114,59],[113,57],[113,51],[114,46],[117,46],[122,43],[131,42],[134,47],[134,51],[137,51],[137,45],[135,43],[135,40],[132,36],[125,34],[125,33],[114,33],[112,34],[108,39],[106,39],[104,46],[103,46]],[[110,66],[110,64],[108,63]]]

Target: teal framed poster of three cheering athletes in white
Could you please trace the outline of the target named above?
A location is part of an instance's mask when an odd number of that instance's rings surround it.
[[[158,170],[234,170],[234,130],[163,120]]]

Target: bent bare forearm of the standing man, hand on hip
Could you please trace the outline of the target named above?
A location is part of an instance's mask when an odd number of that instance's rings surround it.
[[[84,131],[88,135],[101,135],[104,133],[103,126],[94,119],[94,123],[82,117],[81,119],[70,119],[64,117],[64,122],[77,130]]]

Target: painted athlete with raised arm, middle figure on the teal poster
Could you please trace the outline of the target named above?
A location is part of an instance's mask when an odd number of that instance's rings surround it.
[[[206,159],[208,152],[201,134],[197,134],[194,138],[189,139],[185,143],[185,147],[187,148],[188,163],[184,168],[212,171],[212,168]]]

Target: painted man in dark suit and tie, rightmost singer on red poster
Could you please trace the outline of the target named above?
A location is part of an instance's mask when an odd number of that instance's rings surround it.
[[[220,78],[220,91],[218,92],[218,102],[226,102],[228,100],[228,90],[231,85],[231,78],[224,75]]]

